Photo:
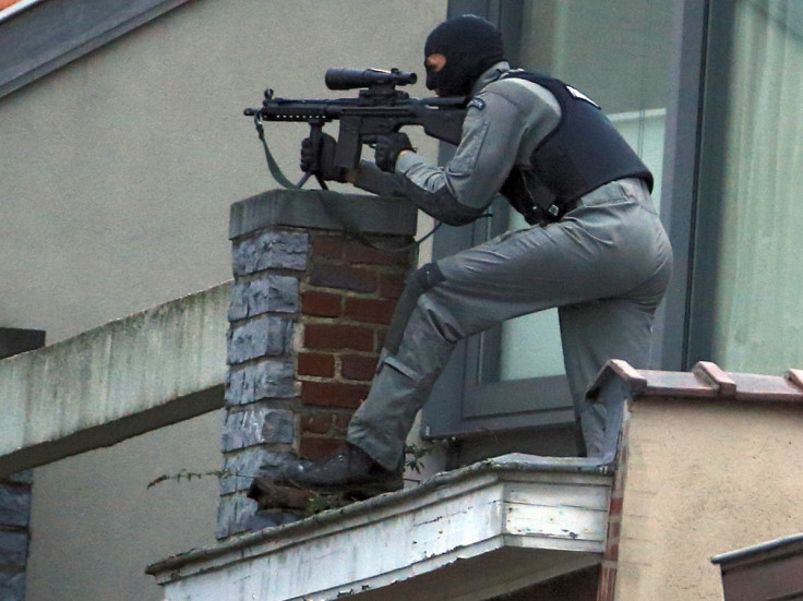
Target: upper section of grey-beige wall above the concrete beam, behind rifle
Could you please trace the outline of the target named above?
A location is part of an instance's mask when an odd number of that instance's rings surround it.
[[[445,11],[200,0],[0,99],[0,325],[52,342],[228,279],[229,204],[275,185],[242,109],[325,96],[328,67],[422,75]],[[305,128],[268,133],[295,179]]]

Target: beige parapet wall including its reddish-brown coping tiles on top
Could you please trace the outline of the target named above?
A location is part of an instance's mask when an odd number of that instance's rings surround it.
[[[609,363],[598,386],[624,381],[631,400],[600,601],[721,601],[711,557],[803,531],[802,373]]]

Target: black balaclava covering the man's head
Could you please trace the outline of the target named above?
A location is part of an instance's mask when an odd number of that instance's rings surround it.
[[[500,31],[472,14],[455,16],[432,29],[423,53],[424,58],[446,57],[443,69],[427,70],[427,87],[444,96],[467,96],[478,77],[505,57]]]

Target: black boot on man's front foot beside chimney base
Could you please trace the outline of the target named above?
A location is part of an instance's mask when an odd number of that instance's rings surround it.
[[[328,459],[296,459],[288,462],[276,479],[276,484],[368,498],[397,491],[403,486],[403,481],[400,470],[385,469],[360,447],[347,444],[343,452]]]

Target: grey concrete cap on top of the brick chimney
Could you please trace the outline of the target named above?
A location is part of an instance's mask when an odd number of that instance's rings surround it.
[[[269,226],[412,236],[418,211],[410,203],[326,190],[269,190],[231,205],[229,238]]]

